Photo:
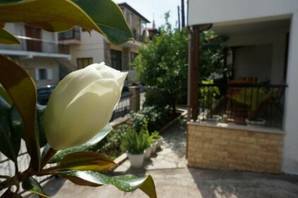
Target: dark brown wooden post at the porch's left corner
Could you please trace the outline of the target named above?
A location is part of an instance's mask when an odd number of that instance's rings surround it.
[[[189,28],[189,70],[187,83],[187,120],[198,119],[198,69],[200,62],[200,30]]]

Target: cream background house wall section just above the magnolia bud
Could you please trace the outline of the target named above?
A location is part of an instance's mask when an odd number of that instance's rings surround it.
[[[81,32],[81,45],[70,47],[71,62],[77,65],[77,58],[93,58],[93,63],[105,61],[104,37],[95,31]]]

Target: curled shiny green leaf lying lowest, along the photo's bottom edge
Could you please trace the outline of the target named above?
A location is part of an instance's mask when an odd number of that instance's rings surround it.
[[[153,178],[148,175],[146,177],[136,177],[134,175],[121,175],[109,177],[101,173],[88,170],[67,170],[57,173],[57,175],[64,177],[77,185],[101,186],[114,185],[119,190],[131,192],[140,189],[149,197],[155,198],[155,185]]]

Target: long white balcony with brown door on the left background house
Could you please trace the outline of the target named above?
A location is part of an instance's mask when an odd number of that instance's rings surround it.
[[[68,45],[53,40],[41,40],[33,37],[16,36],[20,45],[0,45],[1,54],[16,57],[58,57],[68,58]]]

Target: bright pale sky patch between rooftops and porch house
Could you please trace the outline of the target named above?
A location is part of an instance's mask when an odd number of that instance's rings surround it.
[[[165,13],[169,13],[169,23],[175,25],[178,23],[178,11],[177,6],[181,9],[181,0],[114,0],[117,4],[124,3],[129,4],[138,13],[145,16],[151,23],[147,23],[147,28],[152,27],[153,11],[155,15],[156,28],[162,24],[165,24]],[[185,15],[186,15],[186,0],[185,1]],[[181,16],[181,15],[180,15]],[[186,16],[185,16],[186,17]]]

